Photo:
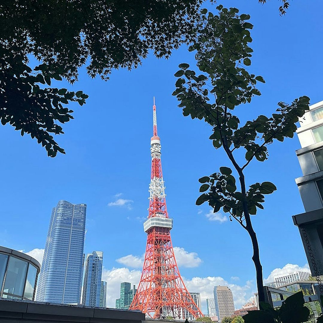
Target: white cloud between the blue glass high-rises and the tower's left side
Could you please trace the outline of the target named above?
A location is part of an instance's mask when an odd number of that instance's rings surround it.
[[[139,284],[141,271],[129,270],[128,268],[103,268],[102,280],[107,284],[107,307],[115,308],[116,299],[120,297],[120,283],[129,282],[131,285]],[[132,287],[132,286],[131,286]]]

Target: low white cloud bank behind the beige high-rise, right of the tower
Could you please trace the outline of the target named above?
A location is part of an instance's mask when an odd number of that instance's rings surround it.
[[[242,307],[256,292],[252,281],[247,281],[242,286],[230,284],[222,277],[193,277],[191,280],[184,279],[184,283],[189,292],[201,294],[203,313],[206,313],[206,297],[214,297],[214,286],[228,286],[231,289],[235,308]]]

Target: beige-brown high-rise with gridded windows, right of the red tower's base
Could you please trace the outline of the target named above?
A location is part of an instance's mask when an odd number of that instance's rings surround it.
[[[214,286],[213,289],[216,316],[220,321],[234,314],[232,291],[227,286]]]

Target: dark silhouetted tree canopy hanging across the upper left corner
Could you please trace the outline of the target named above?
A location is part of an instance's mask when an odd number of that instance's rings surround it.
[[[136,68],[152,50],[169,57],[192,38],[202,0],[13,0],[0,3],[0,120],[29,133],[54,157],[51,134],[72,119],[64,105],[88,98],[50,88],[51,79],[108,79],[113,68]],[[28,66],[29,56],[40,61]]]

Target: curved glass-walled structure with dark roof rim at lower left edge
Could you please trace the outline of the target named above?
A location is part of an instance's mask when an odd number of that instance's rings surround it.
[[[40,269],[37,261],[23,253],[7,250],[8,253],[0,249],[0,297],[34,300]],[[17,254],[21,254],[22,257]]]

